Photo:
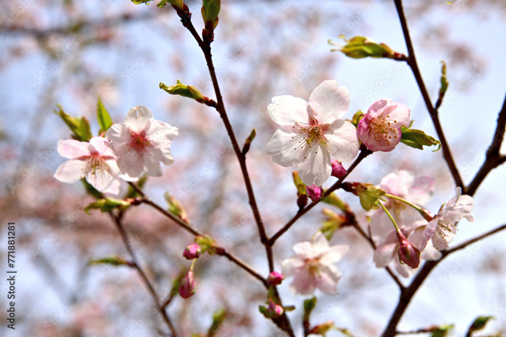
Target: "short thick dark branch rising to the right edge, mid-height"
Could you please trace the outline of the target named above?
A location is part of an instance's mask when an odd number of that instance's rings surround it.
[[[492,138],[492,142],[490,143],[490,147],[487,150],[485,162],[480,167],[478,173],[476,173],[473,181],[469,183],[465,189],[462,190],[462,194],[467,194],[473,196],[480,186],[480,184],[485,180],[485,177],[492,171],[494,168],[499,166],[500,164],[506,161],[506,156],[501,156],[499,154],[499,150],[501,148],[502,140],[504,139],[504,129],[506,127],[506,98],[504,98],[504,102],[502,103],[502,108],[499,111],[499,116],[497,117],[497,126],[495,128],[494,137]]]

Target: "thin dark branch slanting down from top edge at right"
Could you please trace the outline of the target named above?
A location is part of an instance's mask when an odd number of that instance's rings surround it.
[[[418,68],[418,64],[416,63],[416,58],[414,55],[414,49],[413,44],[411,42],[411,37],[409,36],[409,30],[406,22],[406,17],[404,16],[404,11],[402,9],[402,0],[394,0],[395,7],[397,9],[397,13],[399,14],[399,20],[401,22],[402,26],[402,32],[404,34],[404,39],[406,41],[406,47],[408,50],[408,58],[407,63],[409,67],[411,68],[411,71],[413,72],[413,75],[416,79],[416,83],[418,84],[418,87],[420,88],[421,95],[424,98],[425,105],[427,106],[427,110],[429,111],[429,115],[431,116],[432,123],[434,124],[434,128],[436,129],[436,132],[439,137],[439,141],[441,141],[441,149],[443,150],[443,156],[446,161],[446,164],[448,165],[448,168],[450,169],[450,172],[453,176],[453,180],[455,181],[455,184],[457,186],[460,186],[462,190],[465,189],[464,183],[462,181],[462,178],[460,177],[460,174],[458,173],[457,166],[455,165],[455,162],[453,160],[453,157],[450,152],[450,147],[448,145],[448,142],[446,141],[446,137],[443,132],[443,128],[441,127],[441,123],[439,122],[439,116],[438,116],[438,110],[432,105],[431,98],[429,97],[429,92],[427,91],[427,88],[425,87],[424,80],[421,78],[420,69]]]

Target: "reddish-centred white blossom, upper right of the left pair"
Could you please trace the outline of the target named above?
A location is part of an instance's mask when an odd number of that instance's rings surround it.
[[[153,113],[145,106],[130,109],[123,123],[113,124],[106,132],[111,149],[118,157],[119,169],[132,177],[143,172],[161,176],[159,162],[172,164],[170,147],[177,135],[177,127],[154,120]]]

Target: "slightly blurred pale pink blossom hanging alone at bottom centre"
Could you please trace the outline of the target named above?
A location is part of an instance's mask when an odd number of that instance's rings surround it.
[[[328,295],[338,293],[341,272],[333,264],[346,254],[348,246],[330,247],[326,237],[318,231],[311,242],[298,243],[293,250],[296,254],[281,264],[283,275],[293,276],[290,284],[293,294],[311,295],[316,288]]]

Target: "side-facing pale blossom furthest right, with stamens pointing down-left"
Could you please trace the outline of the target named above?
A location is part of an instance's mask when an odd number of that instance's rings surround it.
[[[473,222],[471,211],[474,209],[474,199],[468,195],[461,195],[460,187],[455,189],[455,197],[441,207],[439,213],[429,222],[424,232],[424,242],[432,236],[434,247],[439,250],[449,248],[448,243],[452,242],[457,233],[457,222],[462,218]]]

